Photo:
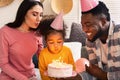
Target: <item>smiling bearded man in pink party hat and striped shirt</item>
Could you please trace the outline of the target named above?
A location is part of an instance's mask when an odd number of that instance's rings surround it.
[[[120,25],[111,21],[109,9],[101,1],[81,0],[81,8],[90,61],[86,72],[96,80],[120,80]],[[82,80],[93,80],[84,76],[81,73]]]

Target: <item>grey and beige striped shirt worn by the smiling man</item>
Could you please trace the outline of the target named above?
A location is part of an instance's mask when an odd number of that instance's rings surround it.
[[[93,43],[86,43],[90,62],[98,64],[101,69],[108,72],[108,80],[120,80],[120,25],[110,22],[106,49],[99,39]],[[102,63],[106,65],[103,66]]]

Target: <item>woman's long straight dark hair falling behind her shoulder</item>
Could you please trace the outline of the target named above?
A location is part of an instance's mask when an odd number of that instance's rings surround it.
[[[23,23],[23,21],[25,19],[25,15],[26,15],[27,11],[29,9],[31,9],[32,7],[34,7],[35,5],[40,5],[43,8],[42,3],[40,3],[39,1],[36,1],[36,0],[24,0],[20,4],[20,6],[18,8],[15,21],[11,22],[11,23],[8,23],[6,25],[11,27],[11,28],[20,27],[20,25]]]

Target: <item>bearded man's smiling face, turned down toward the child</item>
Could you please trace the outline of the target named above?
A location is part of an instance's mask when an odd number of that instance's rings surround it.
[[[102,22],[98,17],[90,13],[83,14],[81,24],[89,41],[93,42],[102,35]]]

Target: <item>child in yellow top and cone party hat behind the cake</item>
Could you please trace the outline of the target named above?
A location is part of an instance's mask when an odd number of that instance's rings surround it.
[[[48,64],[54,60],[72,64],[73,70],[75,70],[71,50],[63,46],[65,27],[63,25],[62,15],[63,14],[60,13],[56,18],[48,16],[40,23],[40,26],[45,28],[43,29],[45,31],[42,31],[44,33],[41,34],[45,36],[46,41],[46,47],[40,52],[38,63],[42,80],[56,80],[44,74],[47,71]]]

